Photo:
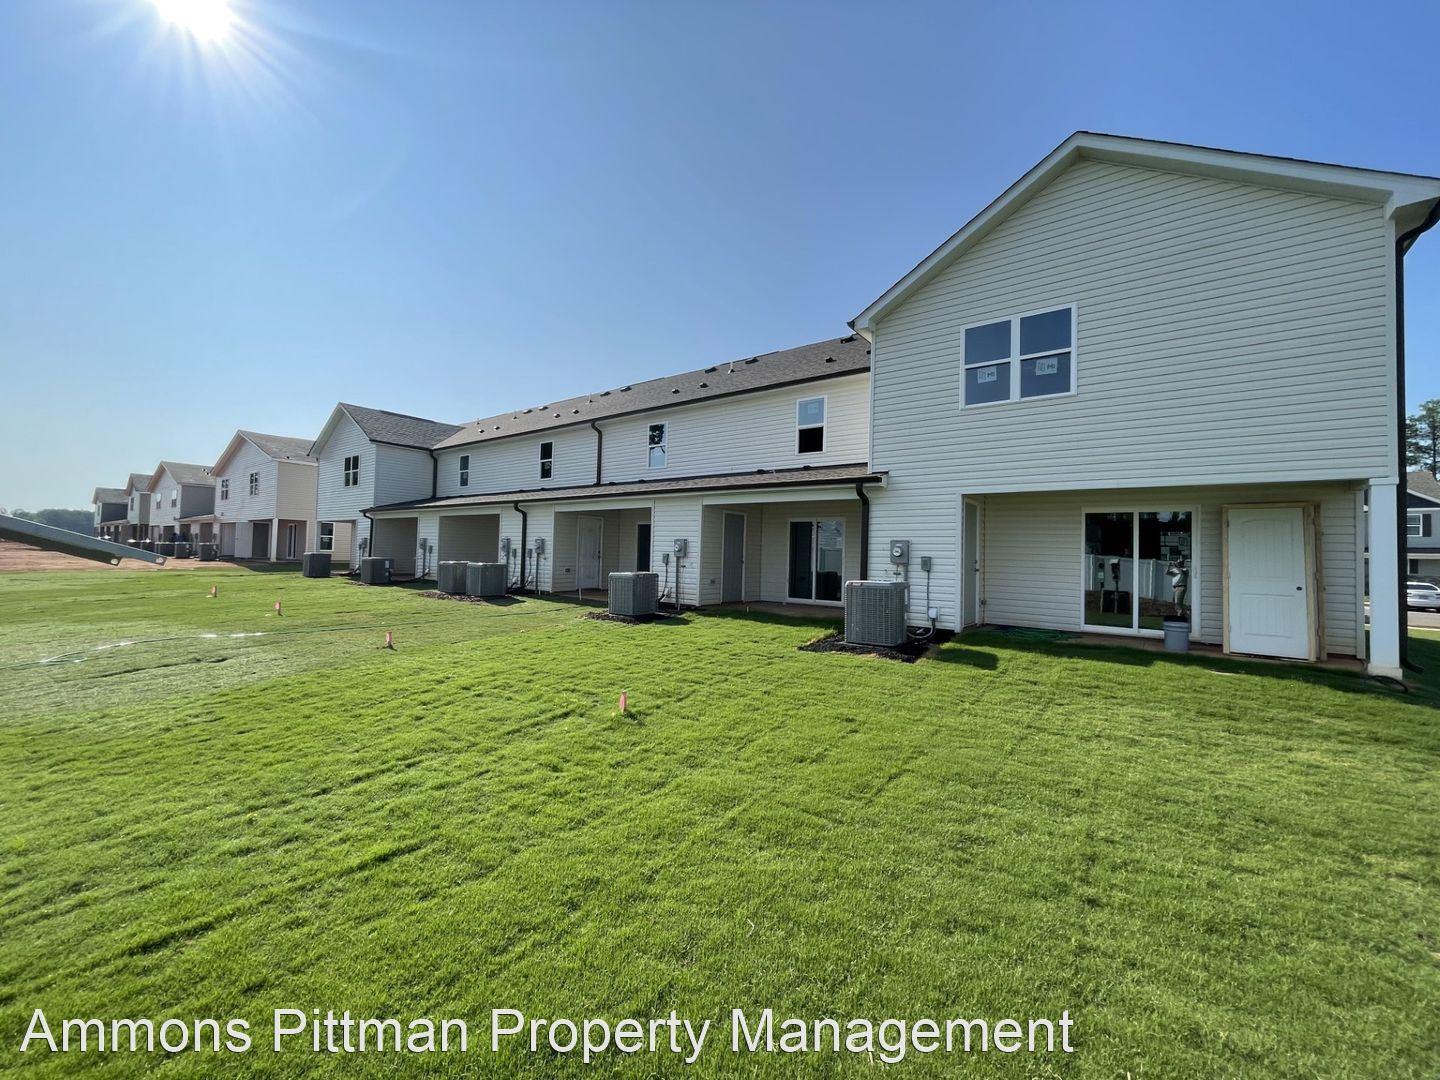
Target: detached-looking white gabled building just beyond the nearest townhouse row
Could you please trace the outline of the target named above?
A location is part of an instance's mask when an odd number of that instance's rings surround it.
[[[315,537],[310,439],[238,431],[210,469],[222,559],[298,560]],[[194,521],[193,524],[200,524]]]

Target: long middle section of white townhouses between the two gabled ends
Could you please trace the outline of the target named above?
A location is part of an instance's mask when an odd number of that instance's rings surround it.
[[[467,423],[433,495],[372,510],[374,553],[419,576],[498,559],[552,592],[641,569],[690,606],[838,603],[883,481],[868,370],[850,336]]]

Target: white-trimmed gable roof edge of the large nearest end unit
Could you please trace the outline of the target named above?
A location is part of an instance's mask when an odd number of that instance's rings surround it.
[[[1323,161],[1303,161],[1293,157],[1270,157],[1185,143],[1077,131],[966,222],[950,239],[924,256],[914,269],[886,289],[855,315],[850,325],[868,336],[874,324],[906,297],[935,278],[1080,160],[1162,168],[1172,173],[1198,173],[1264,187],[1371,202],[1384,206],[1387,215],[1394,217],[1401,229],[1420,223],[1428,209],[1440,199],[1440,179],[1430,176],[1382,173]]]

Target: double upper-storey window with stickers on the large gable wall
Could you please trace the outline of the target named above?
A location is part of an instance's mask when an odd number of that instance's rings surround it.
[[[1074,305],[965,328],[960,408],[1076,389]]]

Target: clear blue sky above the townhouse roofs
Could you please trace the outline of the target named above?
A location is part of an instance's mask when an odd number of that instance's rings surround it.
[[[1440,174],[1433,3],[233,6],[0,4],[0,505],[845,333],[1076,128]]]

